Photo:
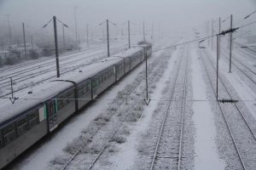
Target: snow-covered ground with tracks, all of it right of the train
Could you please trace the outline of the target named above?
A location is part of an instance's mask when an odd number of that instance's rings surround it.
[[[165,39],[155,43],[154,49],[179,41]],[[152,54],[148,59],[149,105],[143,102],[146,95],[143,63],[22,155],[11,168],[61,169],[79,150],[67,169],[149,169],[169,102],[169,116],[153,169],[177,166],[180,139],[181,169],[242,169],[243,166],[255,169],[256,84],[234,67],[229,73],[223,51],[219,77],[224,85],[219,82],[219,99],[239,101],[216,102],[216,54],[210,48],[196,47],[197,44],[190,44]],[[234,49],[233,53],[236,59],[251,59],[250,63],[242,62],[255,71],[252,51],[242,53]],[[255,79],[252,73],[250,77]],[[180,136],[183,98],[186,100]]]

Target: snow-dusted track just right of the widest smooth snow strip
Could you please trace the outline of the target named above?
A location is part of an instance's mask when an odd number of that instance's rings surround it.
[[[216,82],[216,69],[211,62],[210,57],[207,53],[201,54],[201,63],[207,73],[207,79],[209,80],[212,92],[217,97],[213,82]],[[230,87],[226,85],[224,78],[219,75],[219,94],[224,99],[234,99]],[[224,123],[230,133],[230,138],[236,150],[238,160],[241,167],[236,167],[237,169],[255,169],[255,159],[256,159],[256,137],[255,129],[253,129],[251,123],[247,119],[247,110],[245,110],[242,103],[230,103],[223,104],[218,103],[219,111],[224,118]]]

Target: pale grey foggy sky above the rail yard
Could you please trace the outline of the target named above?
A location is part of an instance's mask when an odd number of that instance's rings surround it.
[[[256,9],[256,3],[255,0],[0,0],[0,25],[6,23],[6,14],[14,27],[21,22],[41,27],[56,15],[74,27],[75,7],[80,30],[86,23],[93,27],[108,18],[119,26],[126,20],[137,27],[142,26],[143,20],[147,27],[154,22],[155,27],[175,34],[204,26],[207,20],[219,16],[234,14],[234,19],[240,20]],[[256,20],[256,14],[253,19]]]

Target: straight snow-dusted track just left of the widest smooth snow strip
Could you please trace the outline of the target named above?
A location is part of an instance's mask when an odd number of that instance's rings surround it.
[[[186,54],[186,57],[187,56],[188,54]],[[186,57],[182,54],[175,76],[173,77],[172,86],[170,88],[171,92],[169,93],[168,104],[166,105],[165,114],[160,124],[160,132],[158,133],[154,147],[154,156],[151,161],[150,170],[163,169],[166,167],[168,167],[168,169],[181,169],[183,158],[183,122],[188,76],[188,59]],[[175,110],[172,108],[173,103]],[[169,120],[171,116],[175,116],[171,119],[174,123]],[[174,132],[171,130],[173,134],[168,134],[168,131],[170,133],[170,128],[173,125],[175,126],[173,128],[176,130]],[[174,136],[174,139],[169,140],[170,136]]]

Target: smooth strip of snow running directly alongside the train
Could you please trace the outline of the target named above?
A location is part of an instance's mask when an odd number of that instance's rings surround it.
[[[67,126],[57,129],[54,137],[39,146],[38,150],[33,152],[31,156],[26,157],[26,159],[18,165],[19,169],[33,170],[35,166],[38,170],[48,169],[49,161],[52,161],[55,156],[63,154],[63,150],[67,144],[71,143],[73,139],[76,139],[81,134],[81,131],[88,127],[90,122],[100,115],[102,110],[107,109],[109,99],[113,99],[114,96],[125,87],[127,82],[132,82],[137,76],[137,73],[143,71],[143,69],[142,65],[134,70],[132,74],[127,75],[124,80],[116,84],[112,90],[104,93],[100,100],[97,100],[96,103],[86,108],[79,116],[74,116],[68,122]]]

